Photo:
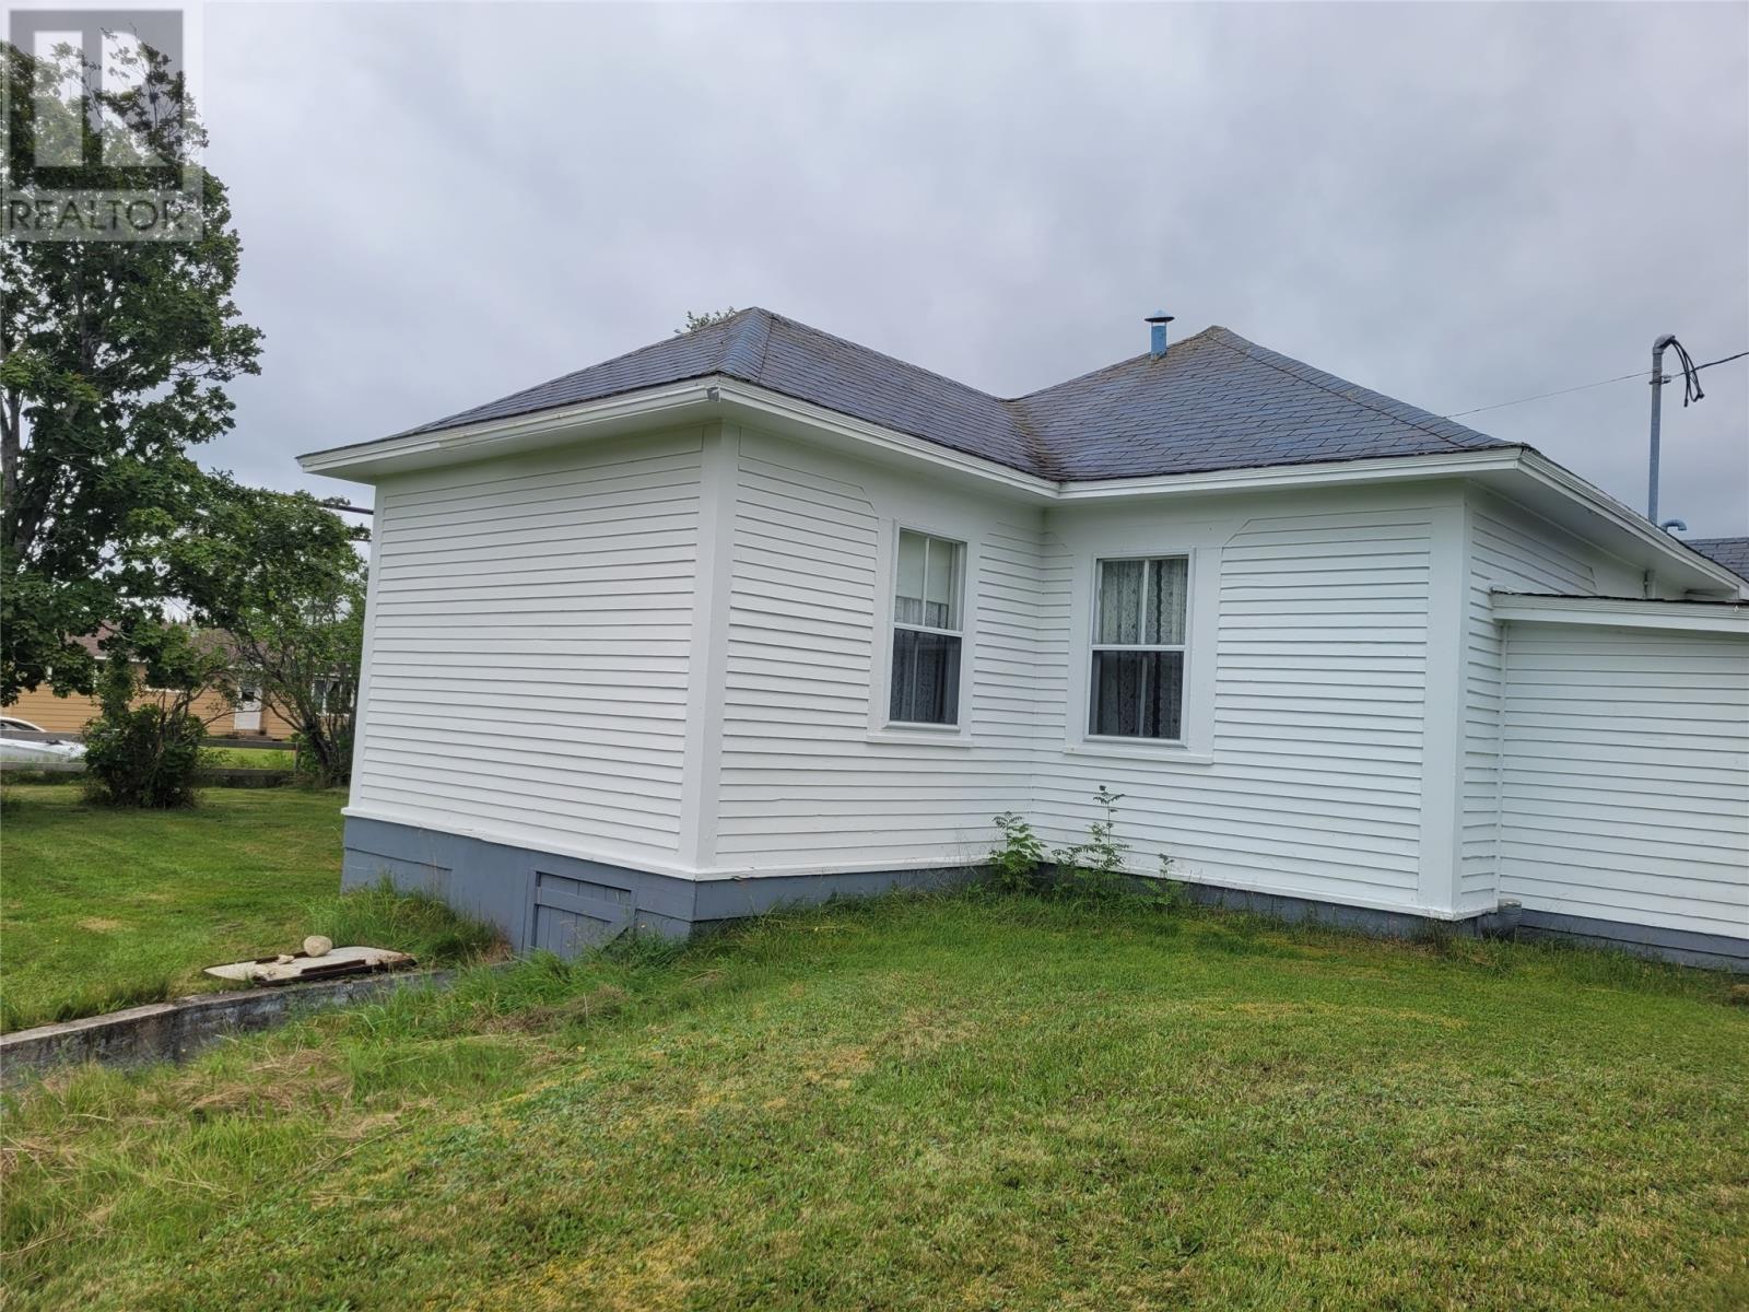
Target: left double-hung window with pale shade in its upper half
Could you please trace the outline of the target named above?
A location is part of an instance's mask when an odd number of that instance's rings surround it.
[[[965,544],[899,530],[892,598],[894,724],[960,722]]]

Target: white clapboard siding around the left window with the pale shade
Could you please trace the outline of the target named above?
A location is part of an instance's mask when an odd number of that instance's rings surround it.
[[[1025,808],[1037,689],[1035,530],[974,537],[976,611],[962,661],[971,733],[951,745],[869,733],[880,521],[854,465],[743,432],[738,443],[717,864],[736,869],[941,864],[990,847],[990,817]]]

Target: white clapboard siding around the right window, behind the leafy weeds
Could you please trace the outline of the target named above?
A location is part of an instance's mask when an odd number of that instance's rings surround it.
[[[1139,869],[1165,854],[1217,883],[1415,904],[1429,548],[1425,511],[1244,523],[1221,549],[1214,761],[1056,750],[1037,785],[1049,833],[1084,836],[1104,784]],[[1069,574],[1044,588],[1044,646],[1086,659]],[[1055,686],[1048,708],[1060,749],[1086,707]]]

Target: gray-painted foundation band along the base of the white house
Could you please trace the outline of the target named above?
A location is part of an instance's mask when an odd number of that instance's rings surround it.
[[[897,889],[950,889],[981,876],[978,868],[946,866],[859,875],[687,880],[387,820],[348,819],[341,883],[357,889],[388,878],[404,892],[427,892],[463,915],[497,925],[516,952],[544,948],[572,955],[628,929],[684,938],[698,925],[740,920],[775,906],[869,897]],[[1523,934],[1572,939],[1684,966],[1749,971],[1749,943],[1723,934],[1520,911],[1516,906],[1466,920],[1434,920],[1411,911],[1380,911],[1214,883],[1188,883],[1186,892],[1207,906],[1289,922],[1315,920],[1382,938],[1420,938],[1429,932]]]

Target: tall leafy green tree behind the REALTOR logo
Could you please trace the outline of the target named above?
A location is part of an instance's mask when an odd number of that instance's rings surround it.
[[[79,142],[80,187],[136,185],[140,168],[91,129],[100,117],[138,152],[192,164],[206,135],[182,75],[150,49],[126,58],[142,61],[131,86],[93,91],[75,52],[0,44],[12,194],[65,182],[33,163],[47,138]],[[0,703],[44,682],[91,691],[96,665],[75,639],[163,616],[164,570],[142,534],[205,500],[189,450],[231,429],[224,385],[259,371],[261,332],[231,299],[241,241],[226,189],[194,177],[192,240],[0,241]]]

